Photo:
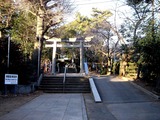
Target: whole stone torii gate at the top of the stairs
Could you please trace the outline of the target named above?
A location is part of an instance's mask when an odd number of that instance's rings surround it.
[[[85,39],[77,39],[77,38],[69,38],[69,40],[62,40],[60,38],[51,38],[46,40],[46,42],[53,42],[52,44],[46,44],[45,47],[53,47],[52,51],[52,74],[56,73],[56,51],[57,47],[67,47],[67,48],[80,48],[80,73],[84,73],[84,58],[83,58],[83,48],[84,47],[90,47],[91,45],[83,45],[83,42],[90,42],[93,36],[91,37],[86,37]],[[80,44],[78,45],[63,45],[63,44],[58,44],[58,42],[70,42],[70,43],[75,43],[79,42]]]

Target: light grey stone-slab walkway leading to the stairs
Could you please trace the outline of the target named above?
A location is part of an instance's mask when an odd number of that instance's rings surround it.
[[[82,94],[43,94],[0,120],[87,120]]]

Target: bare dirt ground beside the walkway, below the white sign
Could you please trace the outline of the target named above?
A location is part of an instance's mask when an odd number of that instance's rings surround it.
[[[0,116],[9,113],[10,111],[20,107],[21,105],[33,100],[39,95],[43,94],[42,91],[35,91],[27,95],[1,95],[0,96]]]

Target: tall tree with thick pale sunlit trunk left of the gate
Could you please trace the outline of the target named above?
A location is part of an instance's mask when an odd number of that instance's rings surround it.
[[[36,37],[33,52],[35,65],[40,65],[43,43],[47,32],[59,24],[63,19],[63,14],[69,10],[67,0],[21,0],[16,3],[23,12],[31,13],[36,17]],[[38,54],[39,53],[39,54]],[[39,57],[39,58],[38,58]],[[38,58],[38,59],[37,59]],[[39,67],[39,66],[38,66]]]

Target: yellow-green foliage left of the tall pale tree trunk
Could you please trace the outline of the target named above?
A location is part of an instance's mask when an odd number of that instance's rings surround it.
[[[34,42],[36,38],[36,18],[32,14],[24,14],[19,12],[18,16],[13,20],[11,36],[13,40],[21,44],[24,54],[32,55]]]

